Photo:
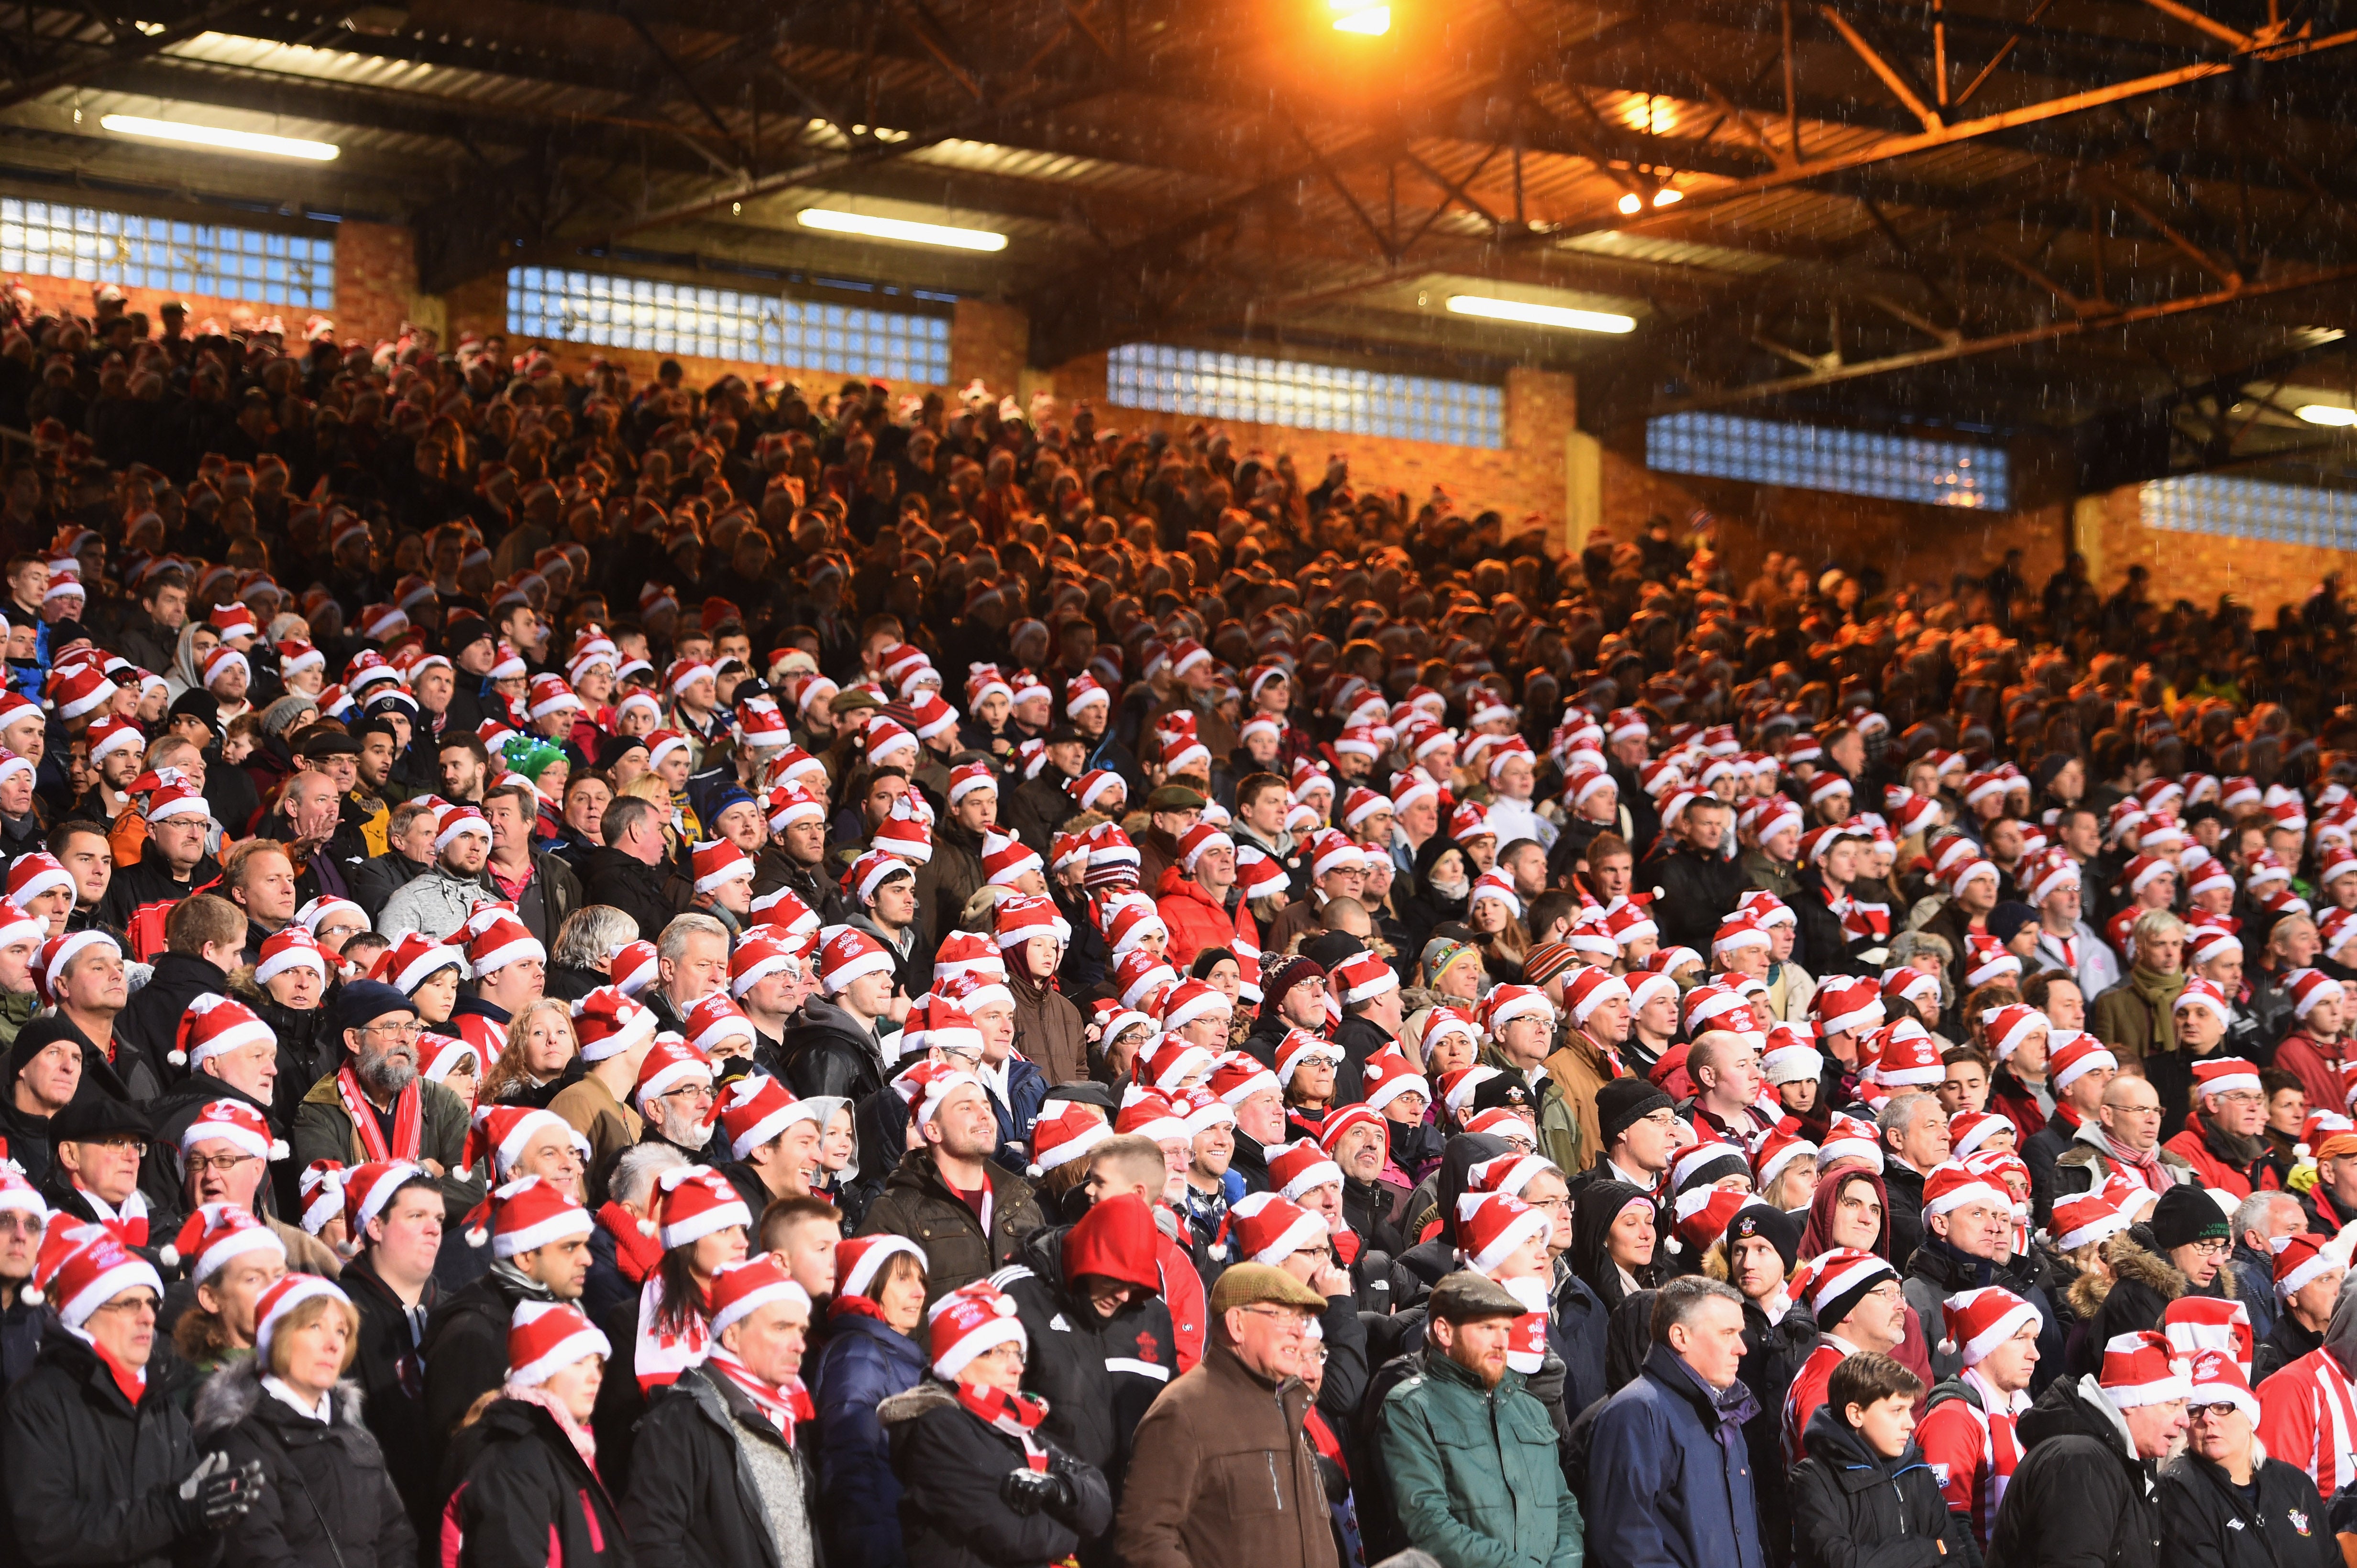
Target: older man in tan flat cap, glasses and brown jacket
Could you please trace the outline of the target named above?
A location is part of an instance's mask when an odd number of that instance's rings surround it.
[[[1327,1302],[1285,1269],[1233,1264],[1211,1285],[1211,1344],[1146,1420],[1113,1540],[1134,1568],[1334,1568],[1318,1450],[1303,1436],[1310,1323]],[[1549,1448],[1553,1462],[1553,1448]]]

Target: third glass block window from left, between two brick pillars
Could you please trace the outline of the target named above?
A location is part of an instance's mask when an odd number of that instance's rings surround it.
[[[1506,445],[1506,391],[1478,381],[1395,377],[1169,344],[1122,344],[1105,356],[1105,393],[1122,407],[1164,414],[1435,440],[1452,447]]]

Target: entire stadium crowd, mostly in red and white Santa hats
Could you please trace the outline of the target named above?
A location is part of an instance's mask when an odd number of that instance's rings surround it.
[[[2338,584],[12,304],[0,1561],[2357,1552]]]

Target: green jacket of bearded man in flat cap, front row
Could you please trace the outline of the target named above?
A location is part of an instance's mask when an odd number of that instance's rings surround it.
[[[1381,1443],[1400,1530],[1440,1568],[1579,1568],[1586,1556],[1556,1424],[1520,1373],[1483,1389],[1428,1344],[1421,1370],[1384,1396]]]

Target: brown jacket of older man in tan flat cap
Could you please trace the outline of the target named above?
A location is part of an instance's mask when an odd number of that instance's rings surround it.
[[[1214,1337],[1219,1330],[1214,1328]],[[1318,1455],[1301,1434],[1310,1391],[1273,1384],[1211,1344],[1153,1403],[1113,1521],[1127,1568],[1334,1568]]]

